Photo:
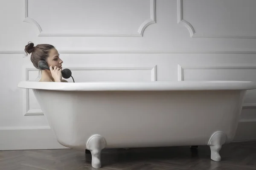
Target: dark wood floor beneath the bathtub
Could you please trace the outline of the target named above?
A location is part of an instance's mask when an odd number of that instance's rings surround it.
[[[223,145],[221,161],[211,161],[209,146],[102,150],[101,170],[256,170],[256,142]],[[0,170],[92,170],[84,150],[0,151]]]

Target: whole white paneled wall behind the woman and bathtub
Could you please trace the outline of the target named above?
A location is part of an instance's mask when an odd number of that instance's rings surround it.
[[[255,5],[255,0],[0,0],[0,150],[64,148],[32,91],[17,88],[38,77],[30,56],[24,57],[29,41],[54,45],[76,82],[255,81]],[[235,140],[256,139],[255,131],[251,90]]]

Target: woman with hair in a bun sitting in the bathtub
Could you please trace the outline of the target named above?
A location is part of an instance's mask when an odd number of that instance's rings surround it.
[[[31,54],[31,62],[38,68],[38,62],[40,60],[46,61],[50,70],[41,70],[41,79],[39,82],[67,82],[62,79],[62,63],[58,51],[53,45],[50,44],[38,44],[34,46],[34,43],[30,42],[25,46],[26,56]],[[39,68],[38,68],[39,69]]]

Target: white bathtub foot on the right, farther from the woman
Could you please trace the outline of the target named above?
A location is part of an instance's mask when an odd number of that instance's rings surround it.
[[[221,156],[219,151],[221,150],[221,146],[226,142],[226,135],[221,131],[217,131],[212,134],[209,139],[208,145],[211,149],[211,159],[213,161],[221,161]]]

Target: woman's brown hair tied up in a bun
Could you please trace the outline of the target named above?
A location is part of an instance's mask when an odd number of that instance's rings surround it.
[[[40,60],[46,61],[47,58],[49,57],[49,51],[52,48],[55,48],[55,47],[50,44],[38,44],[34,47],[34,43],[30,42],[28,43],[28,45],[25,46],[24,51],[26,52],[26,56],[32,53],[30,60],[35,66],[35,68],[38,68],[38,62]]]

